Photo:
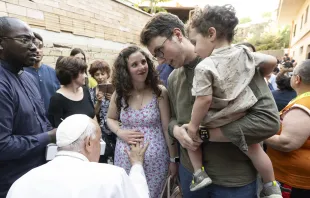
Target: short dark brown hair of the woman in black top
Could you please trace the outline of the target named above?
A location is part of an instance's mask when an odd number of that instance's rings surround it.
[[[63,57],[56,63],[56,76],[61,85],[68,85],[76,79],[80,73],[85,73],[87,64],[75,57]]]

